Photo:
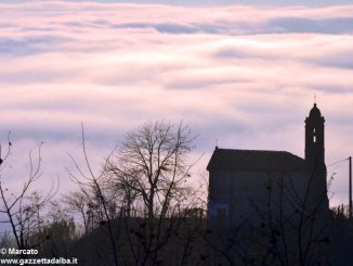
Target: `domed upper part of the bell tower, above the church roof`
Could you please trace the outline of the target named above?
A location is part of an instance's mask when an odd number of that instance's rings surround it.
[[[316,103],[305,119],[305,161],[312,165],[325,165],[325,118]]]

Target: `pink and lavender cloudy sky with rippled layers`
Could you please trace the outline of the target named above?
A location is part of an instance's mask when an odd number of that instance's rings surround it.
[[[0,1],[1,178],[18,188],[43,142],[43,191],[79,163],[84,125],[96,173],[123,134],[183,122],[200,154],[220,148],[304,154],[304,119],[326,118],[326,163],[352,155],[350,1]],[[303,5],[304,4],[304,5]],[[348,162],[331,205],[347,203]]]

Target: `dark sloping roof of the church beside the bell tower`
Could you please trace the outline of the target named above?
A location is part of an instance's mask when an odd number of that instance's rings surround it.
[[[208,170],[303,170],[305,160],[286,151],[231,150],[215,148]]]

